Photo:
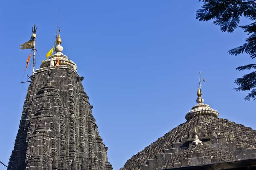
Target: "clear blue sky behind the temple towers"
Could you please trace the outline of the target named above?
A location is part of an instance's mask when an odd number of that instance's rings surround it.
[[[247,92],[237,92],[234,84],[246,74],[235,68],[255,61],[227,53],[247,35],[241,28],[223,33],[211,21],[199,22],[195,13],[201,5],[197,0],[2,1],[0,161],[8,164],[28,87],[20,81],[30,50],[19,44],[37,24],[38,69],[53,46],[59,8],[63,53],[84,76],[114,170],[185,122],[196,104],[199,71],[207,80],[204,103],[219,117],[255,129],[256,101],[244,101]],[[25,75],[31,72],[29,65]]]

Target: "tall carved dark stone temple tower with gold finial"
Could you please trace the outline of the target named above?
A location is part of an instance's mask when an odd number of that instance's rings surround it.
[[[31,76],[9,169],[112,170],[76,64],[54,55]]]

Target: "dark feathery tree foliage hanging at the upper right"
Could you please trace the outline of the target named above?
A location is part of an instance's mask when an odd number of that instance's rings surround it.
[[[201,0],[199,0],[201,1]],[[196,19],[199,21],[209,21],[213,19],[215,25],[220,25],[223,32],[233,32],[241,17],[249,18],[252,23],[239,26],[248,33],[249,37],[243,46],[229,50],[230,55],[246,53],[253,59],[256,57],[256,0],[202,0],[203,6],[196,12]],[[256,69],[256,64],[237,67],[236,70]],[[256,100],[256,72],[244,75],[235,80],[237,91],[251,90],[245,100]]]

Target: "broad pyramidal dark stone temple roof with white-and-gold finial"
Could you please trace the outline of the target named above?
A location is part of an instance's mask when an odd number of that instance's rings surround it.
[[[218,111],[203,103],[186,114],[187,121],[158,138],[120,170],[161,170],[256,158],[256,131],[218,118]]]

